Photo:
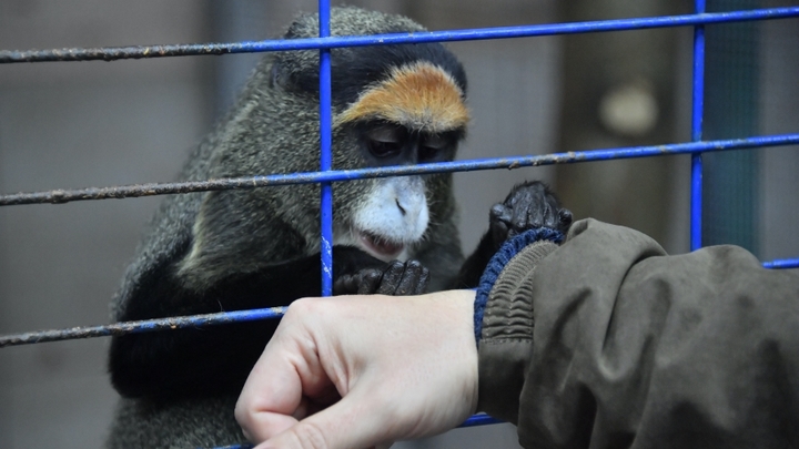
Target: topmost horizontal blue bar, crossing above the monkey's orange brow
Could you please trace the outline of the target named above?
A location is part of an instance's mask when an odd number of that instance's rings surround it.
[[[799,7],[756,9],[751,11],[714,12],[636,19],[597,20],[573,23],[447,30],[398,34],[352,35],[287,40],[244,41],[230,43],[191,43],[165,45],[103,47],[90,49],[0,50],[0,63],[45,61],[114,61],[120,59],[186,57],[225,53],[252,53],[286,50],[317,50],[342,47],[391,45],[397,43],[452,42],[485,39],[529,38],[536,35],[576,34],[588,32],[644,30],[749,20],[799,17]]]

